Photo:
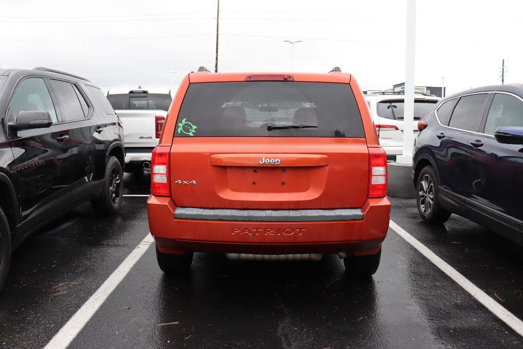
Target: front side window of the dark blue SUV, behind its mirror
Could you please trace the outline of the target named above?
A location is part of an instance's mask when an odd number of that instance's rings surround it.
[[[488,111],[485,133],[494,134],[502,126],[523,126],[523,102],[510,95],[496,93]]]

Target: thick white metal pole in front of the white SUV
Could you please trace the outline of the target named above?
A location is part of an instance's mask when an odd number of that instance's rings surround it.
[[[416,57],[416,0],[407,0],[405,36],[405,105],[403,115],[403,154],[396,157],[402,164],[412,164],[414,128],[414,63]]]

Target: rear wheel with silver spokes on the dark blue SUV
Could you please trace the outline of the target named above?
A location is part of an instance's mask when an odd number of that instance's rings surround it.
[[[441,207],[439,202],[439,179],[434,168],[423,167],[416,184],[416,206],[419,217],[431,224],[448,221],[451,212]]]

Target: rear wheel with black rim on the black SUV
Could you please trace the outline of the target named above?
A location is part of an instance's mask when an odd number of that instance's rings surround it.
[[[104,190],[100,198],[92,200],[91,204],[102,215],[113,215],[123,203],[123,170],[115,156],[109,156],[105,166]]]

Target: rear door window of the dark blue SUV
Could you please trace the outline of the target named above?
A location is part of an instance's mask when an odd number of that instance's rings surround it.
[[[487,97],[486,93],[461,97],[454,108],[449,126],[461,130],[479,131]]]

